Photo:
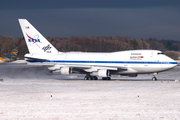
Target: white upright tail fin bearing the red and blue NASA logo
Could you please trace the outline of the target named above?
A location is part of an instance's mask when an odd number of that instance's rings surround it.
[[[26,19],[18,19],[30,54],[58,54],[58,50]]]

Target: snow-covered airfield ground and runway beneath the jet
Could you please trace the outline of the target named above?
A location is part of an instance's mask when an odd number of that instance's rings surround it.
[[[52,75],[44,67],[2,65],[2,120],[178,120],[180,66],[112,80]]]

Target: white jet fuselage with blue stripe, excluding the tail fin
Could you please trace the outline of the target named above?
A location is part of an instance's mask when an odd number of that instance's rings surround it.
[[[127,70],[119,71],[118,74],[145,74],[169,70],[177,65],[173,59],[162,54],[158,50],[129,50],[112,53],[91,53],[91,52],[67,52],[50,55],[26,54],[26,58],[45,59],[30,60],[36,64],[54,65],[52,69],[61,67],[82,66],[87,72],[99,69],[117,70],[125,67]]]

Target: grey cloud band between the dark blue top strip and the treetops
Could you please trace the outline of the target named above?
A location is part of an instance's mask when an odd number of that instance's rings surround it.
[[[18,18],[28,19],[45,37],[126,36],[180,40],[179,8],[80,8],[1,10],[0,33],[22,37]]]

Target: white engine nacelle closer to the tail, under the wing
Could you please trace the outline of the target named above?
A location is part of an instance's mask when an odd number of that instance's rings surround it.
[[[54,70],[52,71],[54,74],[62,74],[62,75],[68,75],[68,74],[71,74],[72,73],[72,70],[71,68],[69,67],[63,67],[61,69],[57,69],[57,70]]]

